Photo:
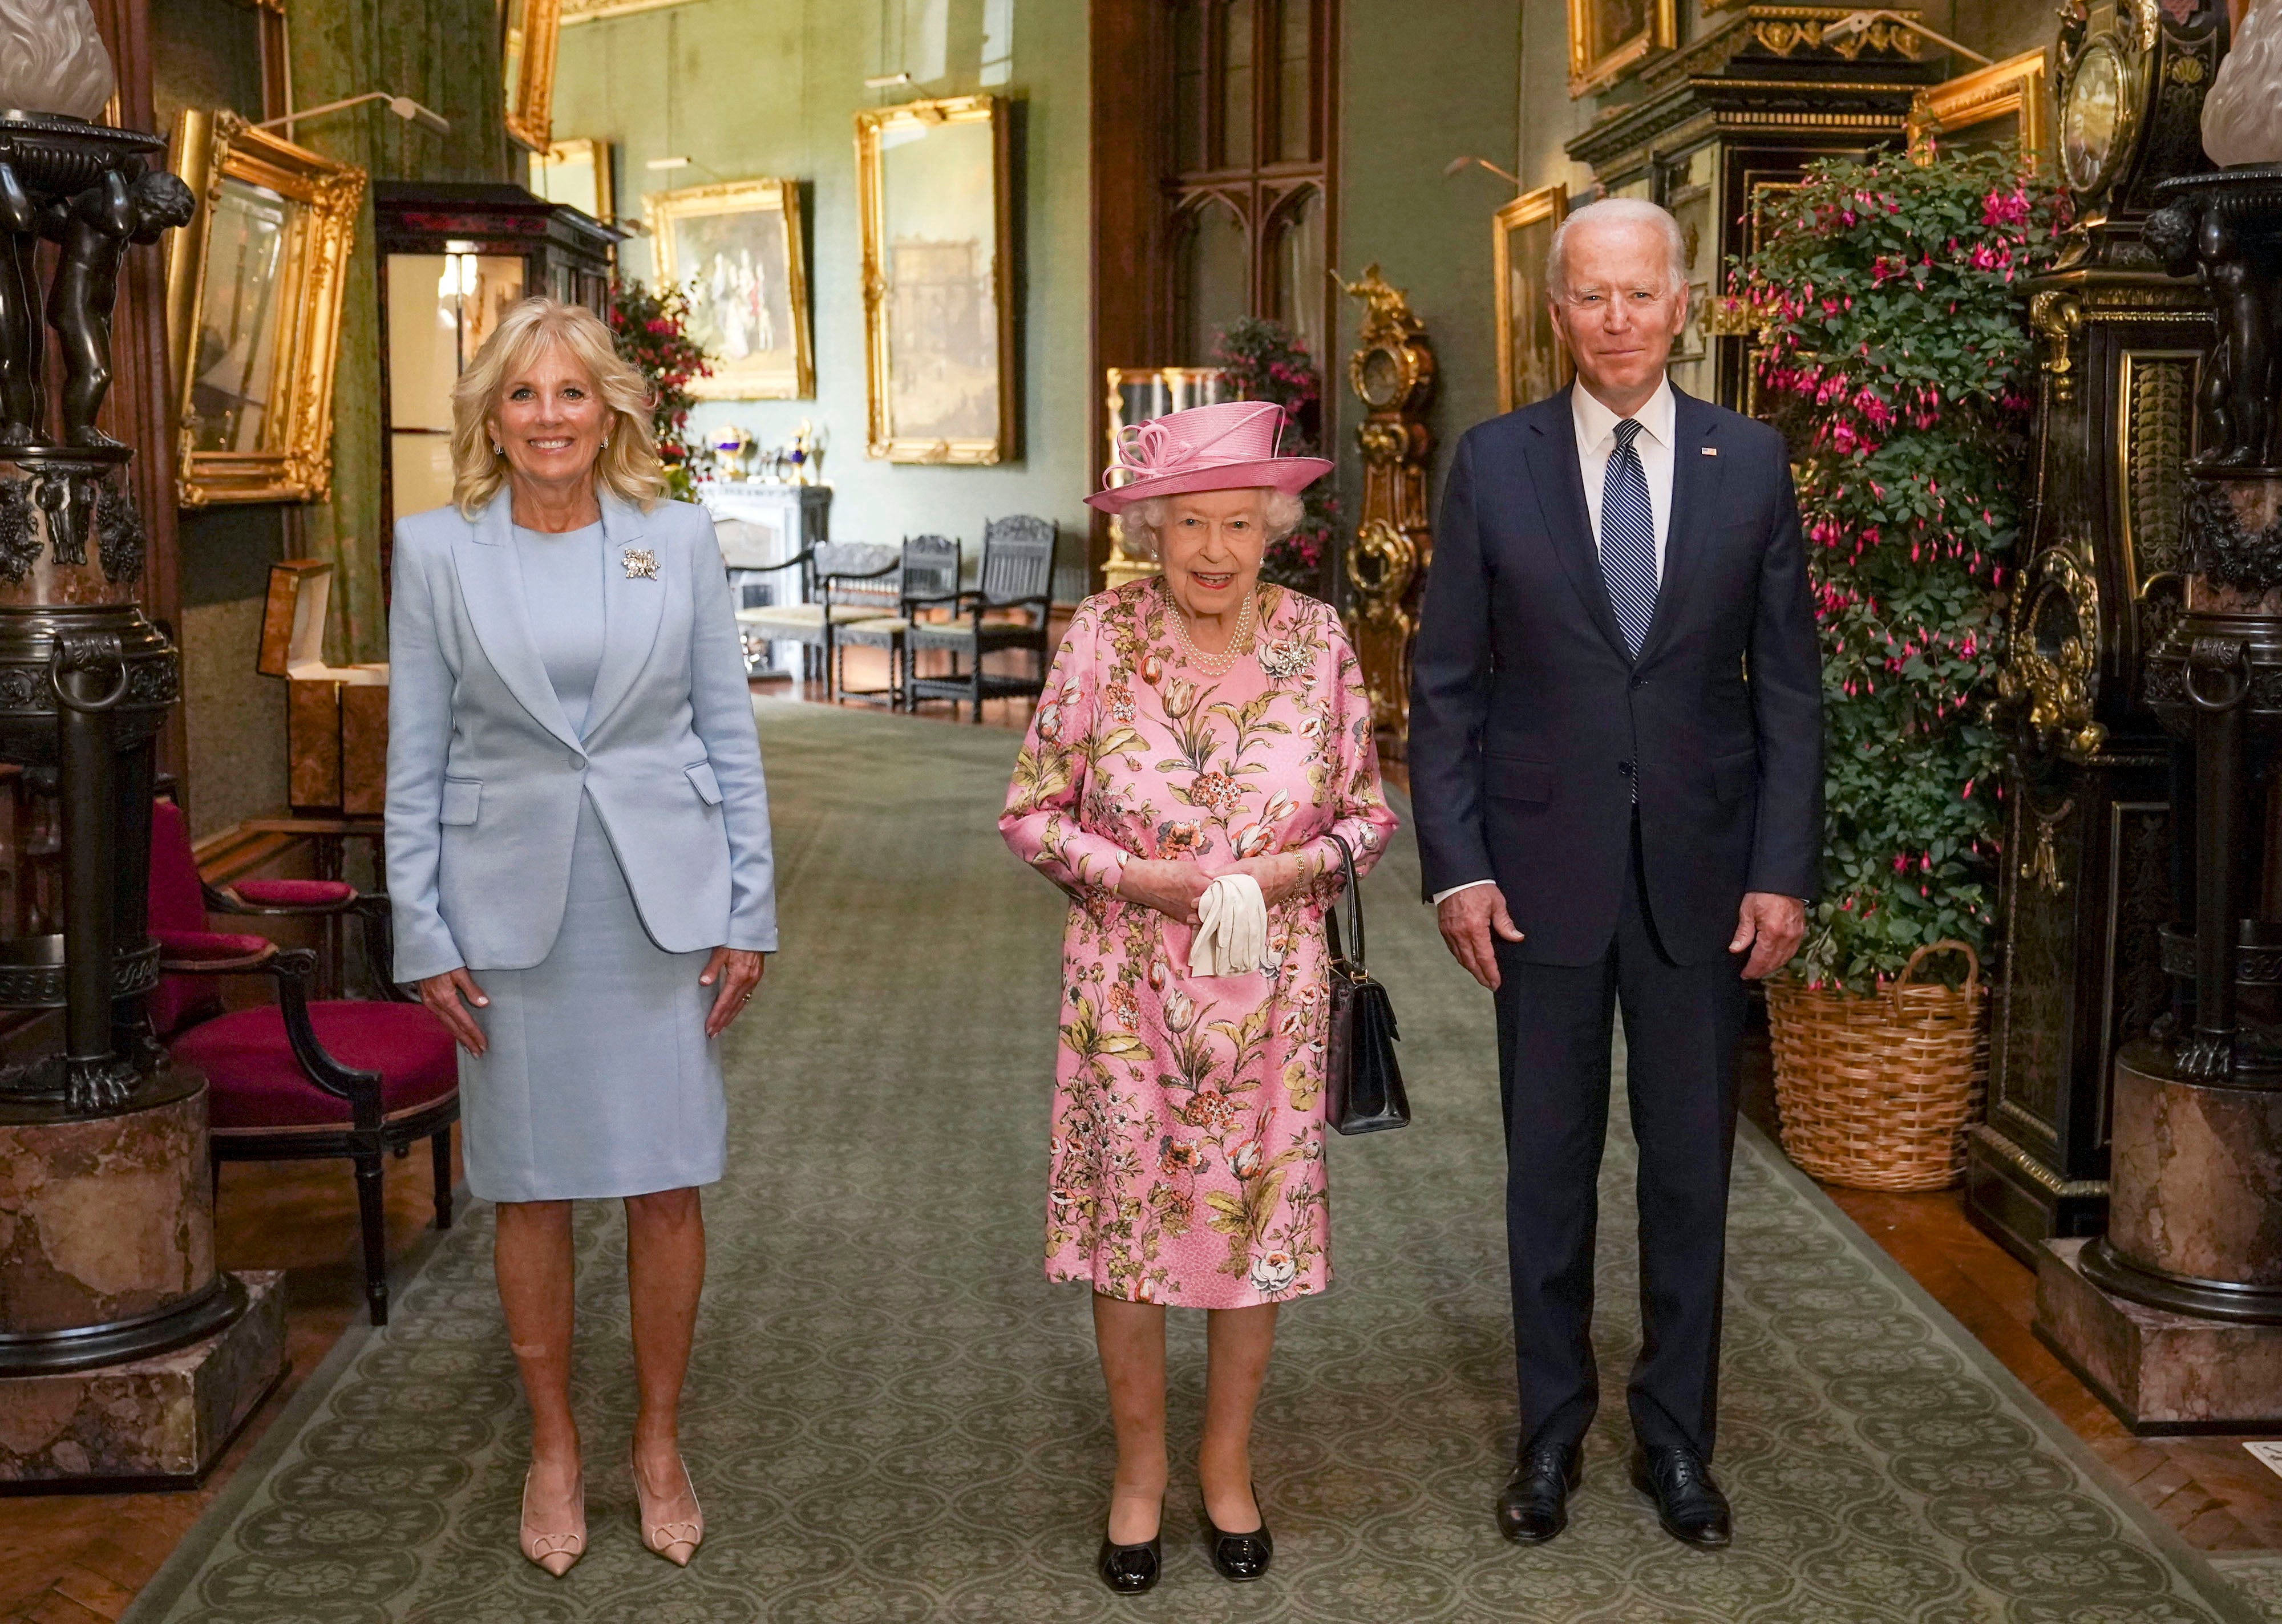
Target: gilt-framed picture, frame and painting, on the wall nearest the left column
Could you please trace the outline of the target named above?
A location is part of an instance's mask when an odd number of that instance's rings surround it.
[[[167,251],[176,497],[317,502],[333,486],[333,363],[365,171],[196,107],[176,119],[167,162],[199,198]]]

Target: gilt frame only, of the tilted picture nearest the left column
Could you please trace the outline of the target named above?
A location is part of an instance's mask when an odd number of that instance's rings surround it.
[[[317,502],[333,486],[333,363],[340,356],[340,299],[365,171],[256,130],[235,112],[196,107],[176,119],[167,162],[199,198],[199,212],[167,249],[167,351],[180,422],[176,495],[183,506]],[[262,187],[294,205],[258,452],[194,449],[194,360],[205,315],[212,214],[224,180]]]

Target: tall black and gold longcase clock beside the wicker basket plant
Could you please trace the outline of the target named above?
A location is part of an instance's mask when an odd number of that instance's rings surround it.
[[[2145,661],[2182,611],[2182,465],[2209,315],[2141,242],[2154,185],[2207,169],[2225,5],[2072,0],[2054,48],[2074,228],[2031,285],[2033,495],[1992,707],[2008,737],[1990,1113],[1965,1204],[2024,1261],[2097,1234],[2115,1049],[2168,1008],[2172,753]]]

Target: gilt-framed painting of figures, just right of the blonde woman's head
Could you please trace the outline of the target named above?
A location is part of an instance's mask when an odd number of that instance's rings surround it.
[[[723,180],[641,201],[657,281],[689,290],[689,338],[714,358],[689,392],[717,401],[808,399],[808,253],[799,180]]]

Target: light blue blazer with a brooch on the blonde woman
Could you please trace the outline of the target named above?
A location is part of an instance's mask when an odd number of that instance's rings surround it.
[[[523,607],[502,490],[397,520],[388,614],[395,979],[529,969],[555,947],[580,796],[657,947],[776,951],[769,791],[712,518],[602,495],[602,668],[570,730]],[[657,575],[618,568],[644,550]]]

